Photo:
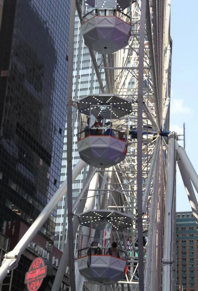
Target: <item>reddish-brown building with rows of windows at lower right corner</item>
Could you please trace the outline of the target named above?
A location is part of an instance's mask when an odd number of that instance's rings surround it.
[[[177,288],[178,288],[177,290],[197,291],[198,228],[193,213],[177,212],[176,226],[177,226]]]

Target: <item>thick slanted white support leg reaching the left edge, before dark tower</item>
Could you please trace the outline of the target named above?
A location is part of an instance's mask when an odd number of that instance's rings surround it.
[[[73,169],[72,182],[75,181],[83,167],[86,165],[82,160]],[[0,267],[0,283],[3,281],[9,271],[16,269],[21,255],[25,251],[28,244],[33,240],[34,236],[40,230],[41,226],[46,222],[51,212],[54,210],[63,195],[67,192],[67,181],[65,180],[61,187],[53,195],[46,207],[41,211],[39,216],[33,222],[32,226],[24,234],[21,240],[16,244],[16,247],[5,255],[5,259]]]

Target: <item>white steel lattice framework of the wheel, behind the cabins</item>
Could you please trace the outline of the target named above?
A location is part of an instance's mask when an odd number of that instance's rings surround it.
[[[133,1],[134,2],[134,1]],[[159,13],[159,9],[161,12]],[[81,6],[77,3],[77,10],[81,16]],[[145,14],[142,16],[141,13]],[[135,1],[132,4],[132,33],[129,46],[121,49],[113,55],[103,55],[102,62],[96,61],[95,54],[91,51],[92,62],[97,70],[104,70],[106,88],[101,85],[101,93],[114,93],[121,97],[132,100],[133,113],[130,116],[130,125],[138,129],[138,109],[142,102],[142,125],[146,130],[143,141],[138,145],[137,139],[131,139],[128,147],[128,155],[125,161],[115,165],[113,168],[98,170],[99,176],[105,180],[105,187],[98,189],[99,207],[105,205],[100,203],[103,195],[108,196],[108,209],[117,209],[132,215],[131,257],[128,274],[123,281],[120,281],[117,290],[128,288],[128,290],[139,290],[139,278],[143,280],[142,271],[139,270],[139,262],[148,260],[146,257],[148,245],[146,242],[149,231],[152,230],[152,250],[149,261],[149,270],[145,273],[145,290],[161,290],[162,274],[157,277],[152,275],[152,280],[148,280],[150,272],[155,268],[162,269],[162,245],[164,233],[164,209],[165,209],[165,140],[160,137],[162,129],[169,126],[169,60],[170,60],[170,35],[169,35],[169,2],[162,5],[161,1]],[[142,31],[141,31],[142,29]],[[141,36],[141,33],[143,37]],[[141,38],[142,37],[142,38]],[[143,65],[143,80],[140,72]],[[98,73],[97,73],[98,76]],[[143,95],[141,95],[141,91]],[[141,99],[142,98],[142,99]],[[139,110],[139,112],[138,112]],[[140,122],[140,120],[139,120]],[[142,125],[139,123],[139,127]],[[124,126],[123,120],[118,122],[119,126]],[[152,128],[152,129],[151,129]],[[150,130],[157,135],[150,139]],[[142,138],[141,138],[142,139]],[[141,190],[138,191],[138,150],[142,152],[141,157]],[[140,171],[140,170],[139,170]],[[160,173],[160,176],[159,176]],[[111,179],[105,178],[111,175]],[[163,177],[163,179],[162,179]],[[142,215],[138,213],[138,195],[143,194]],[[153,196],[154,195],[154,196]],[[153,215],[150,215],[151,206]],[[142,199],[142,198],[141,198]],[[157,211],[156,211],[157,209]],[[151,217],[153,222],[150,226]],[[141,237],[145,238],[143,252],[138,250],[138,220],[142,220],[143,228]],[[151,230],[150,230],[151,227]],[[158,234],[155,234],[157,232]],[[140,235],[140,233],[139,233]],[[141,246],[142,248],[142,246]],[[135,256],[138,253],[139,258]],[[140,256],[142,258],[140,258]],[[144,257],[144,258],[143,258]],[[156,261],[154,261],[156,258]],[[150,271],[152,270],[152,271]],[[143,273],[143,272],[142,272]],[[88,287],[87,287],[88,288]],[[93,286],[91,287],[92,290]],[[107,288],[107,287],[106,287]],[[140,287],[142,290],[142,288]]]

